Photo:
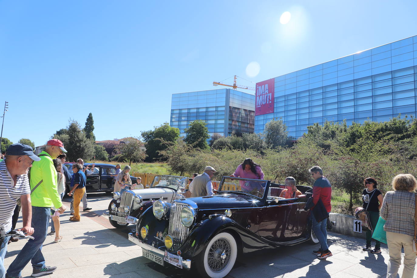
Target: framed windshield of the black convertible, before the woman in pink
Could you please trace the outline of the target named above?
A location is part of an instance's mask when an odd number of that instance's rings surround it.
[[[267,183],[267,180],[224,177],[221,180],[218,192],[241,192],[262,199],[265,194],[265,188]]]

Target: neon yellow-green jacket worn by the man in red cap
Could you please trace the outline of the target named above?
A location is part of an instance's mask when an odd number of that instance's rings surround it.
[[[58,194],[58,173],[55,170],[51,156],[42,151],[40,161],[33,161],[30,169],[30,189],[32,190],[40,180],[43,182],[30,194],[32,205],[43,208],[60,208],[62,206]]]

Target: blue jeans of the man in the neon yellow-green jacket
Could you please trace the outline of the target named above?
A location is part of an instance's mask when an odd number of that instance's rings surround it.
[[[7,275],[18,277],[25,266],[32,260],[32,266],[36,269],[45,267],[45,258],[42,255],[42,245],[48,233],[50,208],[32,206],[32,228],[35,230],[33,237],[20,250],[7,270]]]

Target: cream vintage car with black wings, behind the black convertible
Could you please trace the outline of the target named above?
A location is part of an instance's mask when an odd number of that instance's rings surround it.
[[[136,224],[139,216],[153,201],[171,203],[175,199],[184,198],[183,192],[187,183],[187,177],[157,175],[150,188],[126,190],[122,194],[114,192],[108,206],[109,213],[104,215],[108,216],[111,225],[116,228]]]

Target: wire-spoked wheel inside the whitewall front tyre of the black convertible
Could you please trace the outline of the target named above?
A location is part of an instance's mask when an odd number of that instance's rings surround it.
[[[231,245],[226,238],[219,238],[208,250],[207,263],[213,272],[221,272],[230,261]]]

